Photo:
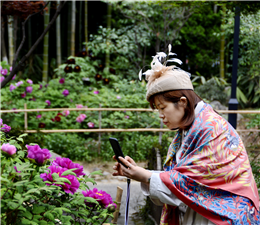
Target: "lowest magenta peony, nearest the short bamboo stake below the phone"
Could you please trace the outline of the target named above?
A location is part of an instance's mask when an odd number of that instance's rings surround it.
[[[85,197],[96,199],[98,203],[104,208],[107,208],[110,204],[113,204],[116,207],[116,204],[113,202],[111,195],[105,191],[99,191],[97,188],[94,188],[93,190],[82,191],[82,194]],[[87,205],[92,206],[92,204],[89,203],[87,203]]]

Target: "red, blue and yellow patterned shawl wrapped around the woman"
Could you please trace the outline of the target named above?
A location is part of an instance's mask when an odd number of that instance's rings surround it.
[[[245,147],[210,105],[204,104],[183,141],[176,134],[164,171],[160,178],[172,193],[213,223],[260,224],[259,195]],[[160,224],[178,224],[175,212],[176,207],[164,205]]]

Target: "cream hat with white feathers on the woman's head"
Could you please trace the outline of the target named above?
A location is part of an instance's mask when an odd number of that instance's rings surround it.
[[[171,52],[171,45],[168,46],[169,54],[176,55]],[[173,90],[193,90],[193,85],[190,80],[190,73],[178,68],[177,66],[169,66],[168,62],[176,62],[182,64],[182,61],[177,58],[166,59],[167,55],[164,52],[158,52],[156,56],[153,56],[151,62],[151,70],[146,72],[139,72],[139,79],[142,79],[142,75],[145,75],[147,83],[146,99],[157,93]]]

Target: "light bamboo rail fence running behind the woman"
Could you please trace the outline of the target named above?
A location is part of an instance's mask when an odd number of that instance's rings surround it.
[[[98,111],[99,112],[99,128],[96,129],[63,129],[63,130],[28,130],[28,112],[50,112],[50,111]],[[171,131],[167,128],[162,128],[163,124],[161,123],[160,128],[103,128],[102,129],[102,111],[135,111],[135,112],[158,112],[153,109],[144,109],[144,108],[53,108],[53,109],[27,109],[27,105],[24,104],[24,109],[15,109],[15,110],[0,110],[0,113],[19,113],[24,112],[24,132],[25,133],[71,133],[71,132],[96,132],[96,133],[110,133],[110,132],[167,132]],[[260,110],[216,110],[218,113],[225,114],[260,114]],[[238,132],[260,132],[259,129],[237,129]]]

